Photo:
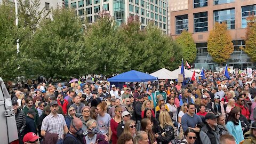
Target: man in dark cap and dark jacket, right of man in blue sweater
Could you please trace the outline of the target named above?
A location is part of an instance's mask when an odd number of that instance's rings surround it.
[[[202,143],[214,143],[219,144],[220,141],[220,129],[217,127],[217,115],[212,113],[206,114],[206,124],[202,127],[199,135]]]

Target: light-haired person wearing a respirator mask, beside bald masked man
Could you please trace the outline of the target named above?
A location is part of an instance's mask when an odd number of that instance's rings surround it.
[[[105,140],[105,136],[102,135],[97,127],[98,124],[95,121],[95,119],[90,119],[87,123],[87,135],[85,135],[85,137],[83,137],[83,142],[84,144],[108,144],[108,141]]]

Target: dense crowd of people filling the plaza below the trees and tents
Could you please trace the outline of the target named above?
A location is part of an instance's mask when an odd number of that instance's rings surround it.
[[[21,86],[12,93],[19,143],[256,143],[254,76],[205,77]]]

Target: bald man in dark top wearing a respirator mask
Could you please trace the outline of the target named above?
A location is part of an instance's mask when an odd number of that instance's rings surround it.
[[[83,122],[79,118],[71,121],[69,131],[63,140],[63,144],[83,144]]]

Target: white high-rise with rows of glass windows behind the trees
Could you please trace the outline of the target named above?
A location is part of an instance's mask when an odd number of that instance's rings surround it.
[[[95,22],[102,11],[110,13],[117,26],[126,22],[130,15],[138,15],[141,29],[148,21],[154,21],[165,34],[168,33],[168,0],[68,0],[68,5],[90,23]]]

